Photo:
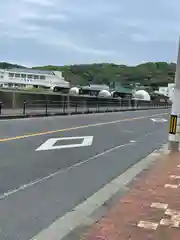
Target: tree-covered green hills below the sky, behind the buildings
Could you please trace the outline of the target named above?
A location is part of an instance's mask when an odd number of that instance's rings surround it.
[[[0,68],[23,67],[0,62]],[[137,66],[117,64],[79,64],[69,66],[37,66],[34,69],[63,71],[64,77],[72,85],[80,84],[108,84],[134,85],[139,83],[149,87],[166,86],[174,82],[175,63],[147,62]]]

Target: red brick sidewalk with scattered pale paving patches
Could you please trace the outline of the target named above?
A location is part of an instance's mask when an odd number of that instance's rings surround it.
[[[81,240],[179,240],[180,154],[158,160]]]

